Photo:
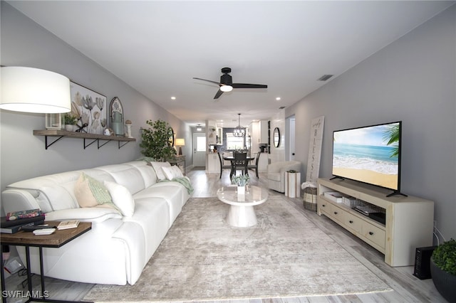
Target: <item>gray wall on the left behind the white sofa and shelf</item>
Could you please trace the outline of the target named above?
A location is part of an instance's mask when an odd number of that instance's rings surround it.
[[[27,66],[51,70],[72,81],[100,92],[108,100],[117,96],[123,104],[125,119],[133,122],[137,139],[118,149],[109,142],[97,149],[96,143],[83,149],[82,139],[62,139],[48,150],[44,137],[33,136],[33,129],[44,129],[43,114],[0,111],[1,190],[14,181],[73,169],[131,161],[140,154],[140,127],[147,119],[164,119],[177,137],[191,141],[190,127],[151,100],[133,90],[97,63],[86,58],[9,4],[1,1],[1,65]],[[185,147],[184,149],[190,149]],[[191,156],[191,153],[190,153]],[[191,163],[191,159],[187,163]]]

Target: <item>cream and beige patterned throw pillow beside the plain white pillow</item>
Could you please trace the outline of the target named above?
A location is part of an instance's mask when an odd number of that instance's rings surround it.
[[[108,188],[100,181],[81,173],[78,181],[74,185],[74,194],[79,206],[81,207],[113,207],[116,208]]]

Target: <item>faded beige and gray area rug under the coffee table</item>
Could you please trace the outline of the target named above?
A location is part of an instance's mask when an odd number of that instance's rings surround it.
[[[280,196],[234,228],[229,206],[191,198],[135,285],[95,285],[93,302],[202,301],[391,290]]]

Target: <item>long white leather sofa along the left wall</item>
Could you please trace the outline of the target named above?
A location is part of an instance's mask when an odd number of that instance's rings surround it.
[[[74,188],[82,173],[110,184],[113,201],[123,209],[81,207]],[[157,180],[150,163],[132,161],[19,181],[6,187],[1,203],[5,213],[40,208],[46,220],[92,222],[88,233],[61,248],[43,248],[44,275],[133,285],[191,196],[182,183]],[[25,264],[24,248],[18,251]],[[39,273],[37,248],[31,248],[31,262],[32,272]]]

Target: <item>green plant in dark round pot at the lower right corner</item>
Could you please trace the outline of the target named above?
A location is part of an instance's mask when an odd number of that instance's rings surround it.
[[[432,252],[430,275],[442,297],[456,302],[456,240],[450,239]]]

